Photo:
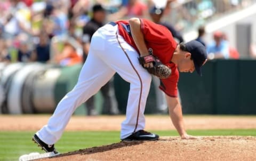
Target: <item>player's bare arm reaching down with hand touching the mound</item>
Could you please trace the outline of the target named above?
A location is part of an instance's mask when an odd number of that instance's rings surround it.
[[[169,108],[169,115],[172,123],[177,129],[182,139],[198,139],[196,136],[188,135],[183,122],[182,109],[178,98],[166,95],[166,101]]]

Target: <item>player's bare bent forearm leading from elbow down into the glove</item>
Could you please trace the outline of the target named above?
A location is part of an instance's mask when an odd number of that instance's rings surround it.
[[[131,18],[131,19],[129,19],[129,24],[130,24],[130,28],[131,28],[131,34],[132,34],[133,41],[140,52],[140,56],[143,57],[143,56],[149,55],[148,49],[147,49],[147,46],[145,43],[145,39],[144,39],[143,33],[141,31],[140,19],[139,18]],[[145,67],[147,67],[147,68],[153,67],[153,63],[146,63]]]

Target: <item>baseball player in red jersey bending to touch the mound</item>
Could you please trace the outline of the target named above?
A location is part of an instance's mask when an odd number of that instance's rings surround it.
[[[56,151],[57,142],[75,109],[106,84],[115,73],[130,83],[126,119],[121,125],[121,140],[158,140],[144,130],[144,110],[151,74],[161,78],[169,113],[182,139],[196,139],[185,131],[182,110],[177,98],[180,72],[197,71],[206,62],[205,47],[197,42],[177,44],[170,31],[147,19],[131,18],[109,22],[92,36],[89,54],[78,82],[58,103],[47,125],[33,140],[46,152]],[[163,69],[163,70],[162,70]],[[150,73],[149,73],[150,72]]]

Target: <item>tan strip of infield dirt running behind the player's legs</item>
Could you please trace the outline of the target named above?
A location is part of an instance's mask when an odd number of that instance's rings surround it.
[[[37,131],[50,115],[0,115],[0,131]],[[65,131],[119,131],[125,116],[72,116]],[[2,123],[2,124],[1,124]],[[256,128],[255,116],[184,116],[186,129]],[[147,115],[145,130],[174,130],[167,115]]]

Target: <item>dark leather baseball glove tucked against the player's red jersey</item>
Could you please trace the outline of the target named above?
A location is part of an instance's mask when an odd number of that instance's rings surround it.
[[[146,63],[152,62],[153,68],[144,68],[148,70],[148,73],[153,74],[160,79],[168,78],[172,73],[172,70],[169,67],[163,65],[163,63],[159,59],[155,58],[154,55],[140,57],[139,61],[142,67],[144,67]]]

